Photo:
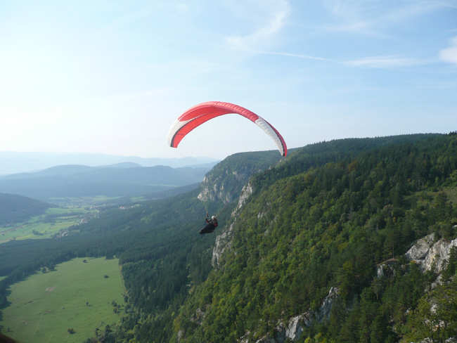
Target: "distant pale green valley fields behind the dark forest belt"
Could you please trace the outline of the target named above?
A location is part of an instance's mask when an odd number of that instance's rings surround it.
[[[94,215],[96,209],[50,208],[44,214],[34,216],[23,223],[0,226],[0,243],[8,240],[50,238],[58,231],[78,224],[82,219]]]

